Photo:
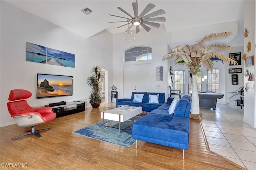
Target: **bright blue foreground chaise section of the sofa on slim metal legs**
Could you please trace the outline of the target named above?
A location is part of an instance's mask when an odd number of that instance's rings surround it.
[[[178,101],[174,114],[168,109],[174,98],[169,97],[167,102],[154,109],[132,125],[132,138],[137,140],[161,144],[174,148],[188,150],[190,132],[191,99],[188,95]]]

